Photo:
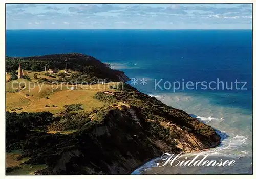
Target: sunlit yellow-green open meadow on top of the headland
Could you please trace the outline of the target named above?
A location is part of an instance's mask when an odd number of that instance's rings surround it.
[[[29,74],[33,73],[31,72]],[[117,84],[78,85],[75,90],[71,90],[72,85],[57,86],[31,82],[36,82],[36,80],[28,81],[26,79],[18,79],[6,83],[7,111],[16,111],[18,113],[50,111],[55,114],[63,111],[65,109],[63,107],[64,105],[71,104],[82,104],[84,111],[90,111],[92,108],[101,107],[106,104],[94,99],[93,96],[99,91],[107,90],[113,92],[115,90],[108,88],[108,86]],[[20,86],[25,87],[22,89]]]

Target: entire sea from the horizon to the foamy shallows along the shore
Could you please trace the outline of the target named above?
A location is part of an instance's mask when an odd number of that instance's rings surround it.
[[[251,30],[6,31],[7,56],[74,52],[110,63],[141,92],[214,127],[221,145],[200,155],[236,160],[187,168],[157,167],[157,158],[132,174],[252,173]]]

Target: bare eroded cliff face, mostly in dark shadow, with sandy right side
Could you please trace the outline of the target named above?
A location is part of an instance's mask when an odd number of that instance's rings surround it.
[[[99,116],[92,116],[95,115]],[[114,103],[104,109],[100,120],[92,117],[94,125],[82,127],[79,143],[73,149],[63,152],[57,163],[38,174],[130,174],[164,152],[197,151],[219,144],[216,133],[205,137],[165,119],[147,119],[131,104]],[[159,131],[154,131],[155,123],[159,124]]]

